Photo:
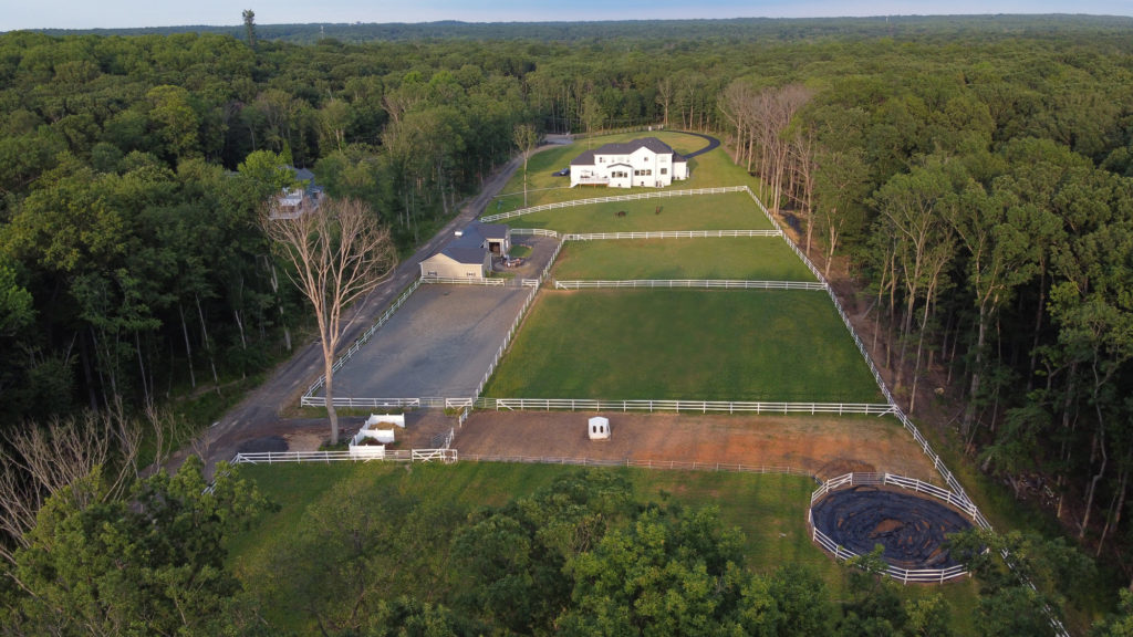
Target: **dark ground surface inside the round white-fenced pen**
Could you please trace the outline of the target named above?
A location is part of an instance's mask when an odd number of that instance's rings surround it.
[[[945,535],[971,528],[963,513],[912,493],[853,486],[829,493],[811,509],[815,527],[858,554],[885,546],[885,561],[905,569],[956,566]]]

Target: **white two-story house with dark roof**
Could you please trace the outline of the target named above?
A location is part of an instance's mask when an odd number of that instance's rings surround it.
[[[612,188],[663,188],[688,179],[689,164],[680,153],[656,137],[606,144],[570,162],[570,185]]]

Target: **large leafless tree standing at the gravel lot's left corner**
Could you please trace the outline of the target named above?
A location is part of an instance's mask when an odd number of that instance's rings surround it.
[[[291,282],[310,301],[323,350],[326,415],[331,444],[339,442],[333,404],[334,353],[342,337],[342,313],[393,272],[398,253],[387,228],[365,203],[325,199],[305,214],[284,218],[266,206],[259,226],[293,270]]]

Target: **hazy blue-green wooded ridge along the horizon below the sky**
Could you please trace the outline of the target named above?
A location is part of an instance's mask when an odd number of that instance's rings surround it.
[[[361,43],[403,40],[543,40],[579,42],[610,37],[792,41],[815,37],[925,37],[987,33],[998,36],[1065,35],[1079,29],[1125,33],[1133,18],[1083,15],[879,16],[869,18],[734,18],[700,20],[615,20],[548,23],[353,23],[257,25],[261,39],[310,44],[331,39]],[[242,37],[244,26],[39,29],[49,35],[148,35],[220,33]]]

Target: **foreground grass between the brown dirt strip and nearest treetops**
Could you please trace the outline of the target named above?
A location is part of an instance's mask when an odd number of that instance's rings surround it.
[[[408,470],[407,470],[408,469]],[[266,516],[230,545],[230,564],[252,591],[279,583],[265,581],[271,557],[287,552],[291,534],[312,511],[325,508],[342,493],[374,490],[419,496],[423,501],[461,512],[482,506],[501,506],[529,495],[557,476],[581,469],[553,465],[461,462],[443,465],[335,464],[245,466],[241,472],[281,509]],[[843,570],[810,542],[806,507],[815,483],[786,475],[662,472],[647,469],[586,469],[617,472],[633,484],[641,502],[657,501],[663,493],[691,508],[712,502],[719,508],[725,527],[738,527],[746,536],[748,566],[755,571],[774,570],[784,563],[812,568],[826,581],[833,600],[842,598]],[[443,550],[444,547],[438,547]],[[273,574],[280,576],[281,574]],[[283,575],[286,579],[286,575]],[[910,586],[908,597],[940,592],[953,606],[957,635],[974,634],[971,625],[976,586],[962,580],[942,587]],[[278,594],[278,593],[276,593]],[[267,619],[281,628],[314,630],[301,600],[265,608]]]

